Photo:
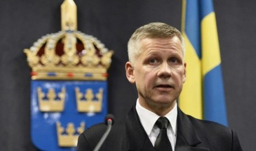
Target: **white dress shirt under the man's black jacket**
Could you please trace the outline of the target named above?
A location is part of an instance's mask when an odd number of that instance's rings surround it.
[[[136,111],[139,115],[141,125],[144,127],[146,134],[149,136],[149,140],[151,141],[152,145],[155,146],[156,138],[160,132],[159,127],[157,127],[155,123],[160,116],[142,107],[139,104],[139,99],[137,99]],[[175,151],[177,136],[177,115],[177,103],[175,103],[175,107],[173,107],[173,109],[164,116],[170,121],[170,124],[168,124],[167,127],[167,136],[171,142],[173,151]]]

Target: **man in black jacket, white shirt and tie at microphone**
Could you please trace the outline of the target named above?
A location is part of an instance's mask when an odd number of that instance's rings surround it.
[[[174,27],[154,22],[138,28],[128,42],[126,75],[138,99],[126,119],[116,122],[101,150],[242,150],[228,127],[198,120],[177,107],[186,80],[185,47]],[[78,150],[93,150],[106,130],[83,132]]]

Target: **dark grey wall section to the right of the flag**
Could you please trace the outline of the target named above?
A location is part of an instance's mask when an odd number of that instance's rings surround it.
[[[215,1],[229,126],[244,150],[256,142],[255,1]]]

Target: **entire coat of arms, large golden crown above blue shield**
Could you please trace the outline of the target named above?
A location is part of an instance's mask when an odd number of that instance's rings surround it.
[[[113,51],[77,31],[77,7],[64,0],[62,31],[25,49],[31,72],[31,140],[41,150],[75,150],[85,127],[107,114]]]

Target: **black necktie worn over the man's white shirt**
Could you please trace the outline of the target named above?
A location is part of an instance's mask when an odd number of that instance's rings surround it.
[[[157,136],[156,142],[155,142],[155,149],[157,151],[165,151],[165,150],[171,151],[172,150],[172,145],[167,136],[168,123],[169,123],[169,120],[166,117],[160,117],[156,121],[156,125],[160,129],[160,133]]]

